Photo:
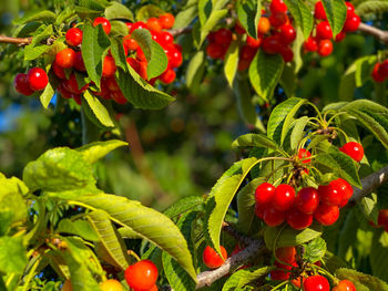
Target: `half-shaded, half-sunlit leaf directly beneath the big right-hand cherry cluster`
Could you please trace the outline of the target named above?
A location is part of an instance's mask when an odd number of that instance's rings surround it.
[[[317,237],[320,237],[323,227],[318,222],[304,230],[296,230],[288,226],[267,227],[264,232],[265,245],[269,250],[303,245]]]

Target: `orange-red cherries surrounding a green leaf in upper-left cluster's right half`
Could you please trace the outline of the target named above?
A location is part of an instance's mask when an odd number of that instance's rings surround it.
[[[127,22],[130,34],[126,35],[123,40],[124,50],[131,55],[126,59],[127,63],[137,72],[137,74],[147,80],[146,75],[146,59],[145,55],[136,43],[134,39],[131,38],[131,34],[136,29],[146,29],[151,32],[152,39],[156,41],[167,55],[169,64],[167,69],[157,77],[150,80],[150,83],[153,84],[157,79],[164,84],[170,84],[175,80],[175,67],[178,67],[182,64],[182,48],[180,44],[174,43],[174,37],[166,30],[171,29],[174,25],[175,18],[171,13],[165,13],[159,18],[149,18],[146,23],[139,22]]]

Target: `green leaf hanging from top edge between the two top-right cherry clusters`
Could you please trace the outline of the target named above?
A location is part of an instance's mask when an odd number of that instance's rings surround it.
[[[305,39],[307,39],[314,27],[310,9],[302,0],[285,0],[284,2],[287,4],[296,24],[302,29]]]

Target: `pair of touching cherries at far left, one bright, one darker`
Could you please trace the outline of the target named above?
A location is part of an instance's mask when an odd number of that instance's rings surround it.
[[[35,91],[45,89],[49,77],[41,67],[32,67],[27,74],[19,73],[14,77],[14,89],[24,96],[32,95]]]

